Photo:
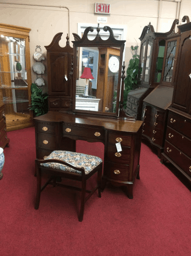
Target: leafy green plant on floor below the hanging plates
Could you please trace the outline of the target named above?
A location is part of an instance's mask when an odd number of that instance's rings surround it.
[[[48,94],[42,93],[35,83],[31,84],[31,107],[35,116],[44,115],[48,112]]]

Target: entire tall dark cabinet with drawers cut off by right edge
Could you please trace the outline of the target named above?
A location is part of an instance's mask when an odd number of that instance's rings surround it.
[[[161,163],[169,161],[191,181],[191,22],[187,16],[185,21],[178,26],[179,58]]]

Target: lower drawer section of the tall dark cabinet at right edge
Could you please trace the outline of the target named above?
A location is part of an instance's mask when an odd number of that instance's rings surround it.
[[[169,161],[191,181],[191,118],[169,110],[161,163]]]

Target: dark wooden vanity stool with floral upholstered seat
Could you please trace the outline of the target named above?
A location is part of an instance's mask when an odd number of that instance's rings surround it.
[[[83,220],[84,204],[88,198],[98,190],[98,196],[101,197],[101,175],[102,175],[102,160],[97,156],[86,155],[71,151],[55,150],[45,160],[35,160],[37,174],[37,194],[35,209],[39,208],[40,194],[44,188],[51,184],[53,186],[66,187],[72,190],[81,191],[81,207],[79,221]],[[45,172],[50,174],[50,179],[41,187],[41,174]],[[94,173],[97,173],[97,185],[92,191],[86,190],[86,180]],[[78,180],[82,182],[82,188],[69,186],[58,183],[61,177]],[[89,193],[85,197],[85,193]]]

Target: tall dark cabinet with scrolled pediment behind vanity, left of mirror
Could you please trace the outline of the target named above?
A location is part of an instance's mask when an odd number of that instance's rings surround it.
[[[63,33],[57,33],[47,50],[48,71],[48,104],[50,111],[67,111],[72,104],[73,77],[73,48],[69,45],[67,35],[66,46],[60,47],[59,41]]]

